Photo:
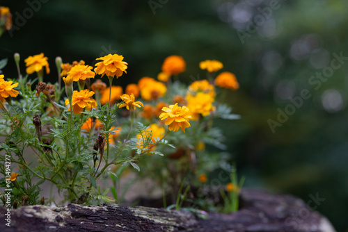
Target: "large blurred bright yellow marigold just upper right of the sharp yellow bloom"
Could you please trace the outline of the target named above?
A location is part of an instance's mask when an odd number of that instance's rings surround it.
[[[207,116],[210,112],[215,110],[212,105],[214,98],[210,94],[198,92],[196,96],[187,95],[187,107],[193,116],[193,119],[198,119],[198,114]]]

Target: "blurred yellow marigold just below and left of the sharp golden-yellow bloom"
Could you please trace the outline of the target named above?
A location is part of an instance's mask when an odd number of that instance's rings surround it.
[[[138,139],[138,147],[140,149],[144,148],[145,140],[148,136],[150,136],[151,133],[151,143],[148,144],[149,147],[151,147],[153,144],[155,144],[158,140],[163,138],[164,134],[166,133],[166,130],[163,126],[158,126],[157,124],[151,124],[146,131],[143,131],[143,133],[136,135],[136,138]],[[149,148],[146,147],[146,148]],[[150,151],[155,151],[156,146],[152,147]]]

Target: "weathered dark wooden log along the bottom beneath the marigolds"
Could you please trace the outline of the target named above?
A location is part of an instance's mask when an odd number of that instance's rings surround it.
[[[10,227],[2,207],[0,231],[335,231],[326,217],[310,208],[314,199],[305,204],[290,195],[248,189],[242,190],[240,199],[236,213],[207,213],[207,219],[184,210],[116,204],[23,206],[11,210]]]

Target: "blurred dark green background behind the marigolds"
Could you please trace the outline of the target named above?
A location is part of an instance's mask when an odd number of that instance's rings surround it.
[[[242,119],[217,123],[226,129],[245,185],[306,202],[319,194],[325,201],[317,210],[335,229],[348,231],[348,60],[327,80],[312,77],[331,70],[333,53],[348,57],[348,1],[31,0],[0,6],[10,7],[14,24],[0,38],[0,59],[9,59],[6,77],[16,76],[15,52],[22,60],[44,52],[51,81],[56,56],[92,65],[107,53],[122,54],[129,63],[117,81],[123,87],[157,76],[172,54],[187,61],[180,76],[187,83],[205,76],[201,60],[220,60],[241,85],[227,99]],[[306,89],[309,99],[293,107],[290,98]],[[293,114],[272,131],[269,119],[276,122],[279,110]]]

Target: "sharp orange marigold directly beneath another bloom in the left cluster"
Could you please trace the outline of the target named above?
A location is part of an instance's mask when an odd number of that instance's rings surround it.
[[[84,111],[84,108],[86,108],[86,110],[91,110],[92,108],[97,107],[97,101],[91,98],[93,94],[94,92],[89,90],[81,90],[79,92],[75,90],[72,93],[72,110],[74,114],[81,115],[81,112]],[[69,99],[66,99],[65,106],[68,105]]]

